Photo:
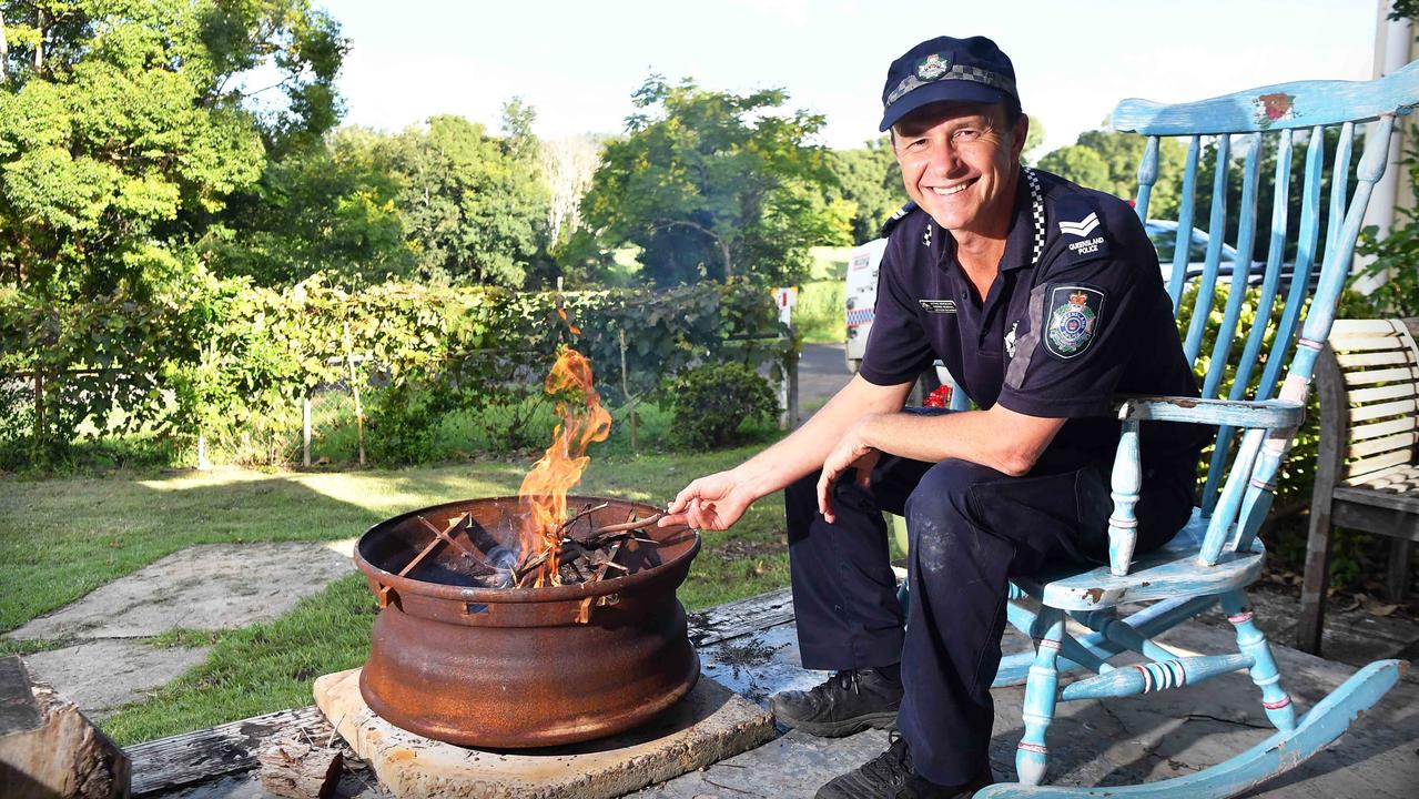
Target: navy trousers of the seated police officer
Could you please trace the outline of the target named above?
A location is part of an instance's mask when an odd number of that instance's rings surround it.
[[[803,667],[901,663],[898,729],[918,773],[944,785],[975,779],[989,766],[1007,582],[1107,562],[1105,468],[1009,477],[962,460],[887,456],[870,487],[851,473],[837,483],[833,524],[817,512],[819,475],[795,483],[785,505]],[[1145,478],[1138,551],[1171,538],[1191,508],[1188,480]],[[907,517],[905,619],[881,511]]]

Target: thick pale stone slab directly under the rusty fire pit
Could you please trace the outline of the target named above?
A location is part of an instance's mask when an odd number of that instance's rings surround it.
[[[775,735],[766,711],[710,678],[701,678],[684,701],[637,729],[535,751],[480,751],[400,729],[365,704],[358,668],[316,678],[315,704],[399,799],[620,796],[752,749]]]

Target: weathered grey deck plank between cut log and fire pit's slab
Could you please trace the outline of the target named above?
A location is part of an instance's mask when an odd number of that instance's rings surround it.
[[[129,746],[133,796],[247,771],[255,765],[267,737],[287,724],[314,724],[324,718],[319,708],[309,705]]]

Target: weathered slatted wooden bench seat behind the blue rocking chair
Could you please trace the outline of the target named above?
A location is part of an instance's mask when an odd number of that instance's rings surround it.
[[[1401,600],[1419,541],[1419,319],[1337,319],[1315,387],[1321,441],[1311,497],[1298,649],[1320,654],[1331,528],[1393,539],[1388,589]]]

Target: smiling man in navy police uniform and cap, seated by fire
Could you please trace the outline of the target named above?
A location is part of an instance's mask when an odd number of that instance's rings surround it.
[[[1107,562],[1110,397],[1198,389],[1128,204],[1022,167],[1029,119],[995,43],[918,44],[883,106],[912,203],[861,369],[792,436],[685,487],[663,524],[725,529],[785,488],[803,666],[836,674],[776,695],[775,715],[815,735],[900,731],[819,796],[968,796],[990,781],[1009,579]],[[935,358],[979,410],[902,410]],[[1145,426],[1139,552],[1186,521],[1199,447],[1185,426]],[[905,630],[884,509],[907,517]]]

